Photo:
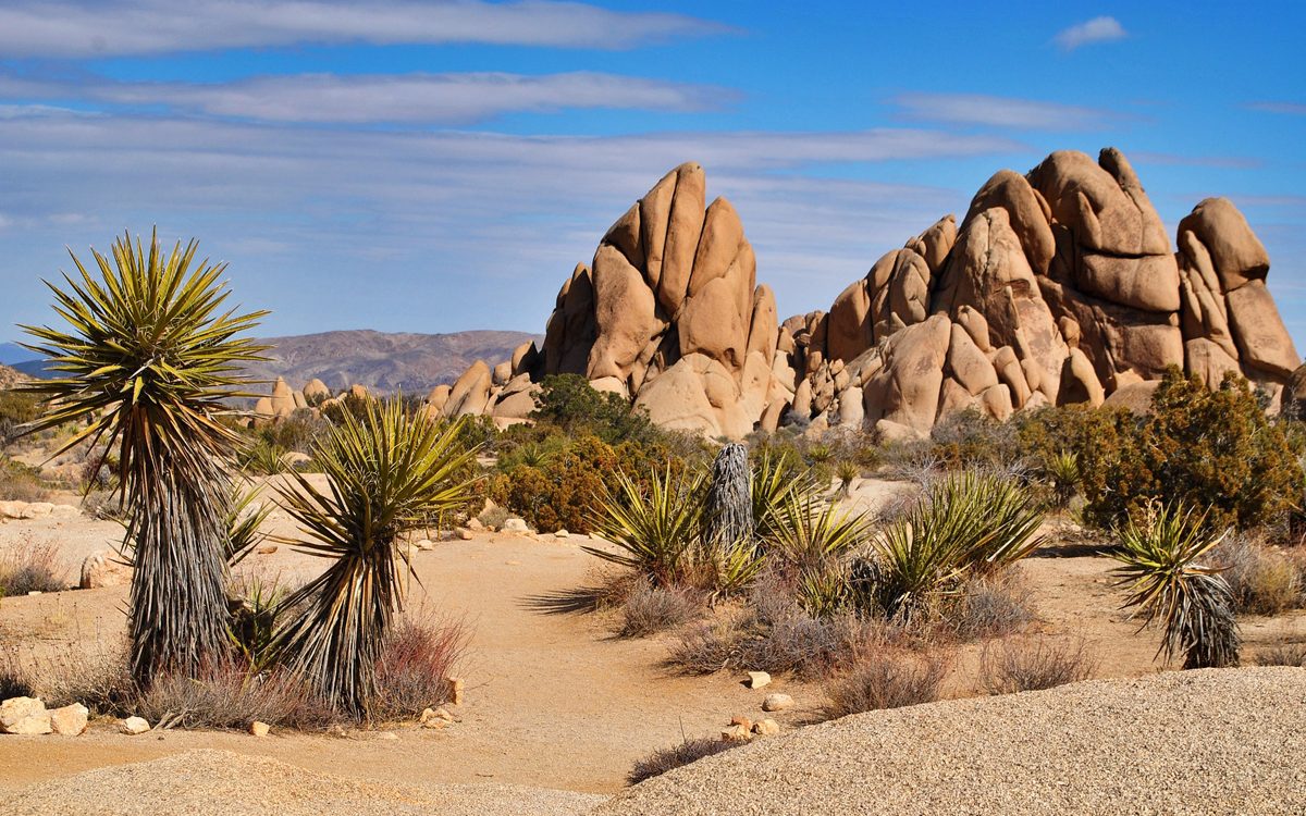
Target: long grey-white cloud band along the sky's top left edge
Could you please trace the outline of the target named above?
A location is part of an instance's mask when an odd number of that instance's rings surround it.
[[[306,43],[486,43],[631,48],[721,33],[684,14],[554,0],[17,0],[0,8],[0,57],[78,59]]]

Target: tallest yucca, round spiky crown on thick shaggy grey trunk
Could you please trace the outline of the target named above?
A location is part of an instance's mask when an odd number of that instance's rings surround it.
[[[265,349],[242,333],[266,312],[226,302],[225,264],[195,262],[196,242],[170,253],[129,235],[98,275],[46,285],[67,329],[24,326],[26,347],[56,379],[26,385],[48,411],[30,431],[85,424],[57,453],[89,443],[119,449],[127,512],[124,548],[135,564],[129,599],[131,671],[148,685],[165,672],[196,676],[227,651],[226,465],[240,437],[219,422],[226,400],[249,396],[240,364]]]

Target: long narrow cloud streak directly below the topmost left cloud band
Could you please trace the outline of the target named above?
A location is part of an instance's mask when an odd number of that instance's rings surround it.
[[[703,111],[737,98],[722,87],[592,72],[299,74],[215,85],[102,82],[82,85],[76,93],[120,104],[165,103],[215,116],[345,124],[470,124],[512,111],[567,108]]]

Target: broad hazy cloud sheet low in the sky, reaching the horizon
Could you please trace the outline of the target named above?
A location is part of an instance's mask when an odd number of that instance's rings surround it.
[[[788,312],[829,302],[970,189],[812,178],[810,167],[1028,153],[996,136],[930,129],[650,133],[614,137],[394,132],[221,120],[42,115],[0,119],[0,324],[44,319],[37,275],[63,245],[124,227],[202,239],[270,330],[341,326],[538,330],[563,277],[657,179],[708,171]],[[972,187],[982,179],[966,180]],[[82,213],[81,223],[55,217]]]

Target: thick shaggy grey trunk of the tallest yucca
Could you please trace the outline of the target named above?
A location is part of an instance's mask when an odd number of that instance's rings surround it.
[[[141,484],[127,542],[135,573],[129,631],[132,678],[200,676],[227,654],[223,507],[206,484],[185,484],[166,470]]]

